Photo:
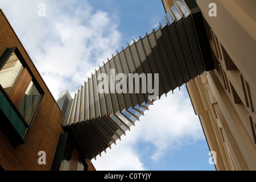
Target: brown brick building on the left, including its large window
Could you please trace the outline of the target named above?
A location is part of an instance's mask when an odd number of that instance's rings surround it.
[[[64,116],[2,10],[0,35],[1,168],[51,170]]]

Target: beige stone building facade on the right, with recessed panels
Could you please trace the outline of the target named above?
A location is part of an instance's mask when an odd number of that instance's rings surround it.
[[[174,4],[172,0],[162,2],[166,11]],[[255,170],[256,2],[196,3],[204,17],[216,69],[187,83],[195,113],[217,170]],[[210,15],[212,11],[216,16]]]

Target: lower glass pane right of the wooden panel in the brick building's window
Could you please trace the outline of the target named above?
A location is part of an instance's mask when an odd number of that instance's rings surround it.
[[[38,89],[36,89],[33,81],[31,81],[18,107],[20,114],[28,124],[32,114],[34,113],[36,104],[38,104],[39,98],[40,93]]]

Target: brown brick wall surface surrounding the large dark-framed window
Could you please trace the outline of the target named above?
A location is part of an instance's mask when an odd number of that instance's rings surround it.
[[[42,87],[44,97],[24,144],[14,147],[0,130],[0,165],[7,171],[51,170],[60,133],[64,132],[61,127],[64,116],[22,43],[20,43],[2,10],[0,10],[0,55],[5,52],[7,47],[15,46],[19,49],[28,68]],[[46,165],[38,164],[39,151],[46,152]]]

